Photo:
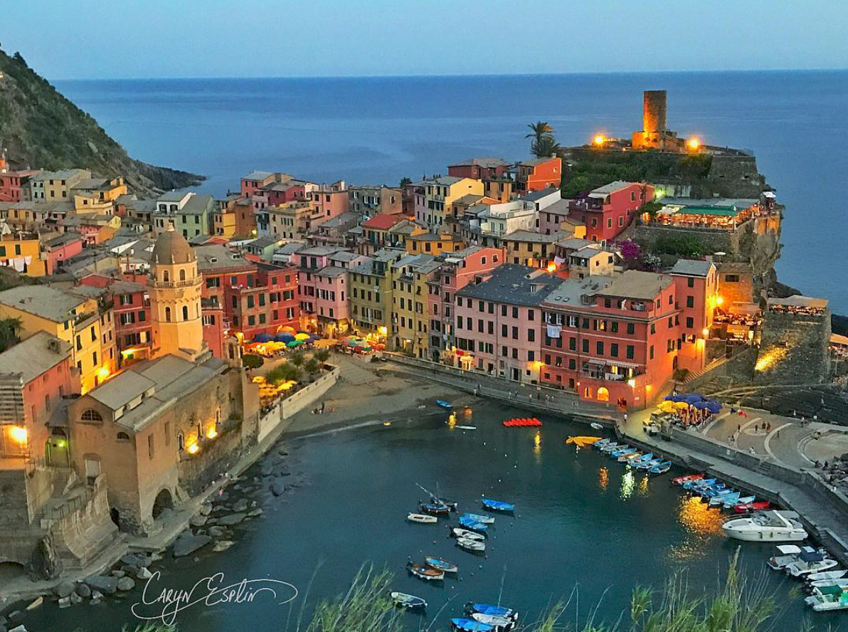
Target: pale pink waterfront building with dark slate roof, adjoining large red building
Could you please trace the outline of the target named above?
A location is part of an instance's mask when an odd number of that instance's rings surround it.
[[[563,279],[504,264],[456,293],[455,356],[459,366],[516,382],[538,383],[540,305]]]

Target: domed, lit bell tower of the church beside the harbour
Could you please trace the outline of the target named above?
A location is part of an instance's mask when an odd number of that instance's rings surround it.
[[[179,355],[197,361],[206,352],[200,307],[203,278],[194,249],[172,224],[159,235],[150,262],[153,357]]]

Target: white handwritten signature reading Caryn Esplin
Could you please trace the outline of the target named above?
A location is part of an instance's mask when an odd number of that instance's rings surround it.
[[[249,603],[259,599],[287,604],[298,596],[298,589],[280,579],[241,579],[226,584],[224,573],[199,579],[190,590],[159,587],[159,571],[144,584],[142,601],[132,604],[132,614],[144,621],[159,619],[173,625],[176,616],[192,606],[219,606],[228,603]],[[226,585],[225,585],[226,584]]]

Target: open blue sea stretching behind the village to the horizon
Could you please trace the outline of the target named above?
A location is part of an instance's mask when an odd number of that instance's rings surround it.
[[[843,183],[848,71],[349,79],[59,81],[130,154],[209,176],[225,193],[253,169],[315,181],[397,183],[473,155],[527,155],[527,123],[562,144],[641,126],[642,91],[666,88],[668,124],[752,150],[787,205],[783,282],[848,312]],[[812,256],[816,253],[818,256]]]

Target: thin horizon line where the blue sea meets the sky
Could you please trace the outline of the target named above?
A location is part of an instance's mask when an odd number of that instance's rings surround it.
[[[696,70],[574,70],[572,72],[479,72],[479,73],[411,73],[408,75],[196,75],[196,76],[129,76],[129,77],[63,77],[50,81],[186,81],[186,80],[255,80],[255,79],[443,79],[446,77],[554,77],[554,76],[608,76],[608,75],[683,75],[725,73],[773,72],[845,72],[848,67],[832,68],[737,68]]]

